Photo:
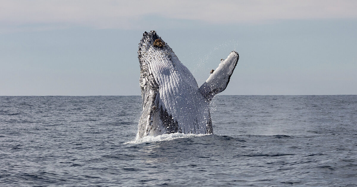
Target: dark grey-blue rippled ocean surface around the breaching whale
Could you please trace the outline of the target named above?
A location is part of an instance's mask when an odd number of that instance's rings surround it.
[[[218,95],[136,140],[140,96],[0,97],[0,186],[357,186],[357,95]]]

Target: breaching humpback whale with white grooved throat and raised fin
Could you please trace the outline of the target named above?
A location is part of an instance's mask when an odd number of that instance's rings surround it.
[[[145,32],[139,43],[142,115],[137,138],[170,133],[212,134],[209,104],[226,89],[239,55],[221,59],[198,88],[191,72],[156,31]]]

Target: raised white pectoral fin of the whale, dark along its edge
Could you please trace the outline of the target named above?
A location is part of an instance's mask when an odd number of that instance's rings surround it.
[[[216,70],[212,69],[210,77],[200,87],[202,95],[208,101],[211,101],[216,94],[226,89],[238,59],[239,54],[236,51],[232,51],[227,59],[221,59],[221,63]]]

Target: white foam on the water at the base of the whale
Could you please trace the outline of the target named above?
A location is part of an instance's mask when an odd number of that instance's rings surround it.
[[[153,141],[167,141],[174,140],[178,138],[187,138],[187,137],[199,137],[205,136],[207,134],[183,134],[183,133],[172,133],[172,134],[163,134],[158,136],[145,136],[133,141],[126,142],[124,144],[140,144],[142,142],[153,142]]]

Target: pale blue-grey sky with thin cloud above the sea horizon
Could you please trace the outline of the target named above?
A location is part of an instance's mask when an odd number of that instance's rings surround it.
[[[157,31],[198,86],[232,50],[223,95],[357,94],[355,0],[1,0],[0,95],[140,95]]]

